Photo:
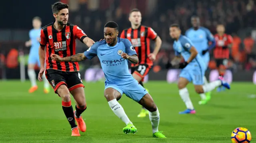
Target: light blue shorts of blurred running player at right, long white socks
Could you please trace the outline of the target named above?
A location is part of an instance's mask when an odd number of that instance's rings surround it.
[[[192,82],[194,85],[203,85],[204,84],[204,73],[205,67],[201,66],[190,66],[182,69],[180,72],[180,77],[186,78],[189,82]]]

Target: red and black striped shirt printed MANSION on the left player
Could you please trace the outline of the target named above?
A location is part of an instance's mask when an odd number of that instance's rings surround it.
[[[46,47],[46,69],[72,72],[79,71],[78,62],[52,61],[51,55],[68,57],[76,54],[76,39],[83,42],[87,35],[77,25],[67,24],[61,31],[53,27],[54,23],[48,24],[41,30],[40,46]]]

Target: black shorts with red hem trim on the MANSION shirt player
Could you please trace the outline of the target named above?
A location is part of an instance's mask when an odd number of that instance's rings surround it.
[[[65,84],[69,91],[72,91],[78,87],[84,88],[84,84],[82,83],[81,76],[78,71],[64,72],[54,69],[47,69],[45,70],[45,76],[52,85],[55,93],[57,93],[57,89],[62,84]]]

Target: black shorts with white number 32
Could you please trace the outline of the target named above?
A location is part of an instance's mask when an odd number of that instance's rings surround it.
[[[134,72],[141,78],[144,78],[148,74],[150,69],[151,66],[149,66],[148,64],[139,64],[138,66],[131,67],[131,73],[133,74]]]

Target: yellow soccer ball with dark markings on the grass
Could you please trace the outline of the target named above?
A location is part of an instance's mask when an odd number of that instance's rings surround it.
[[[250,131],[244,127],[238,127],[231,133],[232,143],[250,143],[251,140]]]

